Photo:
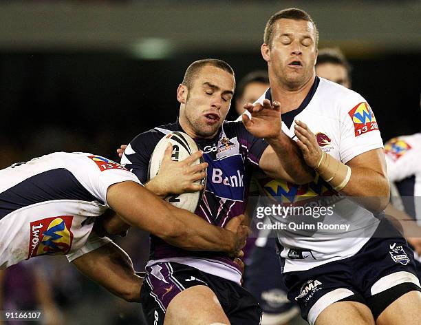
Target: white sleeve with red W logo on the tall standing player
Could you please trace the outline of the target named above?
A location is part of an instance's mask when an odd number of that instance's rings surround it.
[[[341,98],[339,105],[339,154],[345,164],[372,149],[383,147],[374,113],[365,99],[356,94]]]

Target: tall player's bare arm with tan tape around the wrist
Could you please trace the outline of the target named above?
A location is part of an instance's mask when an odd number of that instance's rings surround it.
[[[295,134],[307,165],[314,168],[335,191],[358,197],[360,203],[374,213],[386,208],[390,189],[382,148],[366,151],[343,164],[320,149],[316,136],[305,123],[296,120]]]

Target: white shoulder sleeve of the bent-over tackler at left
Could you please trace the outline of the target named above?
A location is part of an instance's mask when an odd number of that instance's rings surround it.
[[[131,180],[142,185],[125,167],[102,156],[86,154],[77,161],[77,178],[98,201],[109,207],[107,190],[113,184]]]

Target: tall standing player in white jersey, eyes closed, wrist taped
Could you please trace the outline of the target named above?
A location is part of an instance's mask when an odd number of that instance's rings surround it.
[[[376,119],[362,96],[316,76],[318,39],[316,25],[303,10],[274,14],[261,46],[270,90],[245,106],[279,102],[283,131],[298,139],[307,165],[317,172],[306,186],[263,179],[263,191],[286,202],[332,196],[334,216],[349,220],[358,236],[327,231],[322,238],[316,231],[299,237],[294,229],[279,231],[288,297],[299,303],[310,324],[420,324],[413,253],[378,217],[389,201],[389,183]],[[357,205],[337,193],[375,199]],[[384,238],[385,230],[393,238]]]

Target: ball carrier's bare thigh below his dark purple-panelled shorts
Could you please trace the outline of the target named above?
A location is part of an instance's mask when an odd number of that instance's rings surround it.
[[[178,293],[166,309],[164,325],[180,324],[230,324],[230,321],[208,286],[192,286]]]

